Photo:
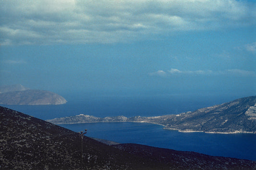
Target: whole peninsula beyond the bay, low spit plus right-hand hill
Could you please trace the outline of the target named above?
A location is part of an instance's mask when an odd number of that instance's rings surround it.
[[[125,116],[100,118],[79,114],[46,121],[53,124],[146,122],[163,125],[165,129],[178,130],[180,132],[256,134],[256,96],[180,114],[153,117],[134,116],[130,118]]]

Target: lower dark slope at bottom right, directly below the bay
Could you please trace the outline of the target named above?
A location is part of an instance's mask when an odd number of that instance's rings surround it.
[[[166,167],[172,167],[173,169],[181,170],[240,170],[248,169],[255,170],[256,162],[244,166],[245,162],[241,159],[215,157],[204,155],[196,152],[184,152],[172,149],[149,147],[138,144],[120,144],[115,145],[121,150],[129,153],[145,157],[151,161],[158,161]],[[245,163],[245,164],[244,164]],[[244,165],[243,165],[244,164]],[[168,168],[167,168],[168,169]]]

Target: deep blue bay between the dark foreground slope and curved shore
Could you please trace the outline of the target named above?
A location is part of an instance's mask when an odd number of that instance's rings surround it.
[[[165,130],[149,123],[83,123],[62,127],[79,132],[87,129],[86,136],[119,143],[136,143],[182,151],[194,151],[211,156],[256,160],[255,134],[183,133]]]

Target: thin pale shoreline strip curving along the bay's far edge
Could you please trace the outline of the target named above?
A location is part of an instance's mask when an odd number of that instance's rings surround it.
[[[131,122],[131,123],[148,123],[148,124],[155,124],[155,125],[161,125],[161,124],[157,124],[157,123],[153,123],[153,122],[146,122],[146,121],[140,121],[140,122],[133,122],[133,121],[114,121],[114,122],[75,122],[75,123],[58,123],[58,124],[54,124],[54,125],[67,125],[67,124],[85,124],[85,123],[122,123],[122,122]],[[51,122],[49,122],[51,123]],[[182,132],[182,133],[194,133],[194,132],[200,132],[200,133],[207,133],[207,134],[256,134],[254,132],[246,132],[246,131],[235,131],[235,132],[204,132],[204,131],[183,131],[180,129],[175,129],[175,128],[171,128],[168,127],[166,125],[161,125],[164,126],[163,129],[166,130],[176,130],[178,132]]]

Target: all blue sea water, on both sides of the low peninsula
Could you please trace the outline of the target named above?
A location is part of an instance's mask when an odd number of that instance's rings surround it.
[[[1,105],[10,109],[47,120],[57,117],[88,114],[97,117],[159,116],[178,114],[230,102],[236,96],[93,96],[66,95],[68,101],[61,105]],[[183,133],[163,129],[149,123],[82,123],[62,127],[75,132],[87,129],[86,136],[118,143],[136,143],[152,147],[199,152],[211,156],[249,159],[256,161],[256,134]]]

